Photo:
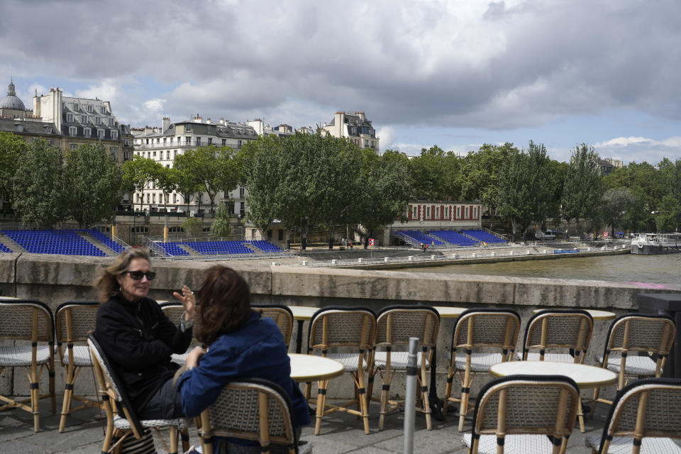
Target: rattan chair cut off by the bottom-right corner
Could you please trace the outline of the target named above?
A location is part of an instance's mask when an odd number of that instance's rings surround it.
[[[681,454],[681,380],[644,378],[616,395],[602,435],[590,433],[593,454]]]

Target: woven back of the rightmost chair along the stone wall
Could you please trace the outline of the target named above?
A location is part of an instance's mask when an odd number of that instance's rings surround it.
[[[676,325],[665,316],[624,314],[612,322],[605,353],[646,351],[664,356],[672,348]]]

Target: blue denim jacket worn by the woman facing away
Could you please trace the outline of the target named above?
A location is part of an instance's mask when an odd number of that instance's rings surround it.
[[[238,377],[259,377],[279,384],[291,398],[295,426],[310,423],[305,397],[291,378],[284,337],[272,319],[252,311],[237,331],[223,334],[210,345],[197,367],[177,380],[182,409],[198,416],[218,398],[223,387]]]

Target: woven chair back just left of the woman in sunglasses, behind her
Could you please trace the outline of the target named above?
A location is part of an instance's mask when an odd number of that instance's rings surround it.
[[[97,301],[66,301],[60,304],[55,312],[57,344],[87,341],[87,334],[94,331],[99,305]]]

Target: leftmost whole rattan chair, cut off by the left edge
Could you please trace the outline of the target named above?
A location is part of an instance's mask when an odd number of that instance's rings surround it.
[[[27,299],[0,300],[0,340],[15,343],[0,346],[0,372],[6,367],[26,367],[31,389],[29,399],[16,400],[0,395],[0,401],[5,402],[0,411],[19,408],[32,413],[35,432],[40,431],[40,399],[50,397],[52,413],[57,411],[54,336],[52,311],[46,304]],[[26,345],[28,342],[30,345]],[[40,376],[45,368],[50,389],[47,394],[40,394]]]

